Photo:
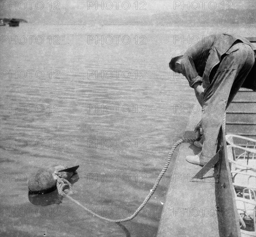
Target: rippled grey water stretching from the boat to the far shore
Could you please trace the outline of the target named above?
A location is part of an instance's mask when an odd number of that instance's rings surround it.
[[[28,200],[26,181],[38,168],[80,165],[73,198],[108,218],[131,215],[152,188],[174,139],[185,131],[190,112],[174,112],[174,105],[195,103],[186,80],[168,68],[171,56],[187,47],[185,41],[174,44],[174,35],[206,35],[214,30],[223,29],[1,27],[1,36],[17,35],[21,42],[22,35],[28,41],[28,35],[44,37],[43,44],[32,37],[32,44],[4,41],[0,45],[1,234],[155,236],[169,170],[145,210],[122,225],[93,217],[57,195],[55,204],[38,206],[50,202],[46,199],[34,205]],[[239,31],[246,36],[253,32],[252,28]],[[88,35],[127,35],[131,42],[88,44]],[[138,42],[146,37],[146,44],[136,44],[136,36]],[[5,75],[9,70],[17,72],[17,78]],[[26,77],[22,70],[27,71]],[[28,70],[34,70],[31,77]],[[89,75],[95,70],[109,72],[104,78]],[[111,76],[114,70],[124,74]],[[101,106],[107,107],[102,111]]]

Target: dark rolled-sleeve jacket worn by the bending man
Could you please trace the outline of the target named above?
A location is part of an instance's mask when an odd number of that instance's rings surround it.
[[[256,47],[247,39],[230,35],[230,34],[214,34],[202,38],[198,44],[190,47],[184,53],[181,59],[182,74],[186,76],[190,83],[190,87],[196,82],[202,82],[204,88],[210,85],[210,74],[212,69],[221,62],[221,57],[224,54],[232,53],[229,50],[235,42],[243,42],[250,45],[253,50]],[[247,76],[242,87],[256,90],[256,66],[254,63],[253,69]]]

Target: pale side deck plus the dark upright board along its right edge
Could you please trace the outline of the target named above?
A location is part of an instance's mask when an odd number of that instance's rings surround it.
[[[190,115],[184,137],[194,136],[193,129],[200,119],[201,113]],[[191,178],[202,167],[185,159],[198,154],[200,149],[193,143],[181,144],[158,226],[158,237],[241,236],[222,130],[220,137],[219,162],[200,180]]]

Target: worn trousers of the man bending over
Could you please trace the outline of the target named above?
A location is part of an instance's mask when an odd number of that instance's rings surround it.
[[[253,49],[243,43],[234,44],[224,54],[205,89],[202,106],[204,145],[200,159],[208,161],[216,153],[218,133],[224,114],[254,64]]]

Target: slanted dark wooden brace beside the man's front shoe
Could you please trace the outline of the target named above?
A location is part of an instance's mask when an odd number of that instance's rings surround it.
[[[200,181],[203,181],[203,178],[212,178],[213,176],[211,177],[204,177],[206,175],[206,173],[209,172],[210,169],[212,169],[213,166],[215,166],[215,164],[219,161],[220,159],[220,152],[222,150],[222,146],[220,147],[220,149],[218,150],[218,152],[215,154],[215,156],[212,157],[212,159],[209,160],[209,162],[207,162],[203,167],[202,169],[199,170],[199,172],[194,175],[192,178],[191,178],[191,181],[193,182],[200,182]],[[219,170],[218,170],[218,174],[217,174],[217,180],[216,182],[218,182],[218,176],[219,176]],[[205,181],[204,181],[205,182]]]

